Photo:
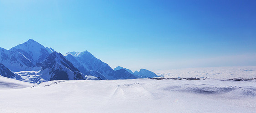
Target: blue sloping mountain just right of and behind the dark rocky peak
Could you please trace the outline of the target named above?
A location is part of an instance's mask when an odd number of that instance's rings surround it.
[[[82,70],[98,71],[107,79],[135,79],[134,75],[127,71],[114,71],[108,64],[93,56],[90,52],[68,52],[66,58],[71,61],[81,72]],[[73,56],[73,57],[72,57]]]

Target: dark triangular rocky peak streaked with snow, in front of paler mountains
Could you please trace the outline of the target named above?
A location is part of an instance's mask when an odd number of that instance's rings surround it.
[[[83,75],[65,56],[58,52],[52,52],[42,63],[41,77],[46,80],[84,80]],[[87,78],[89,78],[87,76]],[[90,77],[98,80],[97,77]]]

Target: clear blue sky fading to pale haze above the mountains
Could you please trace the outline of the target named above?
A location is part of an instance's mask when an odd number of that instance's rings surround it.
[[[0,0],[0,47],[30,38],[132,71],[256,66],[256,0]]]

